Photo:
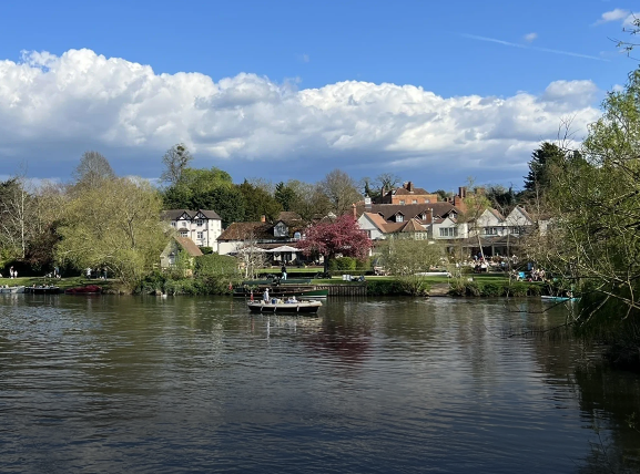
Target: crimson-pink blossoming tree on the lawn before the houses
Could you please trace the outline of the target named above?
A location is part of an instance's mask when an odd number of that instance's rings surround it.
[[[306,229],[305,238],[298,247],[305,255],[317,251],[324,257],[325,271],[336,255],[365,258],[372,248],[372,240],[360,230],[357,221],[349,215],[338,217],[333,223],[318,223]]]

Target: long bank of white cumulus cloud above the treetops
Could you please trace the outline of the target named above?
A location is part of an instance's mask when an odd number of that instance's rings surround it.
[[[250,73],[217,82],[200,73],[156,74],[90,50],[31,52],[21,62],[0,61],[0,156],[28,155],[37,169],[70,150],[112,150],[132,157],[121,169],[153,168],[182,141],[199,159],[223,167],[286,161],[305,169],[333,159],[369,169],[392,162],[457,166],[467,176],[477,167],[525,167],[568,114],[583,132],[599,115],[597,93],[590,81],[557,81],[541,94],[508,97],[443,97],[415,85],[359,81],[298,90]]]

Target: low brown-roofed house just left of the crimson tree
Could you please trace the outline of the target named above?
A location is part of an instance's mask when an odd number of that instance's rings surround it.
[[[303,230],[304,223],[298,219],[267,223],[263,216],[258,223],[233,223],[217,238],[219,254],[237,254],[252,248],[271,254],[275,260],[289,264],[302,257],[301,253],[291,248],[297,248]],[[285,246],[284,251],[277,250]]]

